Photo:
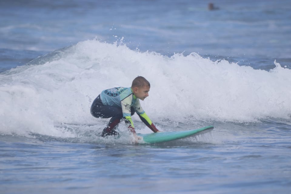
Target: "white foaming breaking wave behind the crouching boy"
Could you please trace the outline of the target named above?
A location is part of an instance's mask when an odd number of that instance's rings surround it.
[[[35,59],[0,75],[0,133],[75,136],[63,123],[104,127],[90,114],[104,89],[151,83],[142,106],[154,122],[253,122],[291,115],[291,70],[269,72],[196,53],[172,57],[96,40]],[[134,119],[139,120],[137,117]]]

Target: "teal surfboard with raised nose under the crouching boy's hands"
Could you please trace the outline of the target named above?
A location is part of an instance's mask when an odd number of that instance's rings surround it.
[[[157,132],[149,134],[137,134],[142,136],[143,141],[146,143],[160,143],[168,142],[176,139],[182,139],[192,135],[199,135],[202,133],[209,132],[213,129],[213,126],[207,126],[200,129],[193,129],[189,131],[170,131],[170,132]]]

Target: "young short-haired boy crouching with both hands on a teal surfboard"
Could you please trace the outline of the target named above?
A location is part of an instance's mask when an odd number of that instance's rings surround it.
[[[130,88],[111,88],[101,92],[93,101],[91,114],[96,118],[111,118],[108,125],[102,131],[102,137],[107,135],[118,135],[115,131],[121,119],[127,123],[129,130],[133,133],[135,140],[141,139],[134,130],[131,116],[136,112],[139,118],[153,132],[159,132],[156,126],[142,109],[139,99],[144,100],[149,96],[150,84],[142,76],[136,77],[132,81]]]

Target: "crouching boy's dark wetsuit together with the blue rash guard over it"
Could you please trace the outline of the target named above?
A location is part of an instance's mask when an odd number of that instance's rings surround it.
[[[148,115],[146,115],[145,111],[142,109],[139,99],[135,97],[131,88],[118,87],[103,90],[93,101],[91,106],[91,114],[94,117],[112,117],[107,127],[103,130],[103,132],[108,133],[108,135],[115,135],[114,129],[122,118],[125,119],[129,129],[135,133],[131,118],[135,112],[139,115],[142,122],[144,122],[153,132],[158,131]]]

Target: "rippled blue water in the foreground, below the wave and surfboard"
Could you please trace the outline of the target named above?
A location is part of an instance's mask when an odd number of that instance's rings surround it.
[[[273,126],[272,126],[273,125]],[[3,193],[288,193],[290,123],[156,145],[1,136]]]

